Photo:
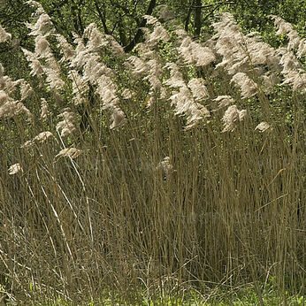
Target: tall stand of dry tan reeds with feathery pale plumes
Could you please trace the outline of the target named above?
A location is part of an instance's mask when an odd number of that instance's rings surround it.
[[[27,80],[0,65],[7,298],[137,303],[143,287],[155,301],[251,283],[264,304],[270,277],[282,301],[304,295],[302,39],[274,50],[225,13],[193,42],[147,17],[130,55],[93,24],[70,45],[29,3]]]

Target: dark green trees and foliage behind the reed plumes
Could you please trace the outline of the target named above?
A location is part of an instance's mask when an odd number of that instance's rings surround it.
[[[245,30],[256,30],[269,37],[272,21],[270,14],[279,15],[295,25],[299,34],[305,34],[306,4],[302,0],[40,0],[50,15],[57,32],[72,38],[72,33],[81,34],[91,22],[96,22],[105,34],[116,37],[127,48],[133,44],[135,35],[144,26],[144,14],[157,14],[164,4],[173,11],[176,19],[191,34],[199,36],[209,25],[218,11],[230,11]],[[25,20],[29,20],[32,9],[26,0],[1,0],[0,23],[23,47],[28,47]],[[140,37],[136,36],[136,40]],[[136,41],[137,42],[137,41]],[[1,57],[9,51],[2,46]]]

